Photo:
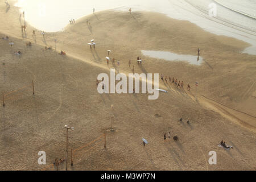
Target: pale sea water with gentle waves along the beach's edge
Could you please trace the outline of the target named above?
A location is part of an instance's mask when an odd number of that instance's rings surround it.
[[[216,3],[217,16],[208,15]],[[243,40],[251,47],[243,52],[256,55],[256,1],[252,0],[18,0],[32,26],[47,32],[61,31],[70,19],[102,10],[153,11],[171,18],[189,20],[216,35]],[[246,16],[246,15],[248,16]],[[250,17],[251,16],[251,17]],[[253,18],[254,17],[254,18]]]

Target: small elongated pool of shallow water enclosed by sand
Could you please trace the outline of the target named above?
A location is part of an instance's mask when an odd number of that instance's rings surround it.
[[[187,61],[189,64],[200,65],[203,61],[203,57],[201,56],[193,56],[193,55],[178,55],[176,53],[168,52],[168,51],[141,51],[144,56],[154,57],[157,59],[164,59],[167,61]]]

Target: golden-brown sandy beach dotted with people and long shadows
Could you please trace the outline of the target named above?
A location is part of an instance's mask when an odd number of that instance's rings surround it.
[[[76,153],[69,170],[255,170],[256,57],[241,53],[249,44],[163,14],[119,11],[86,16],[64,32],[47,32],[45,39],[36,30],[32,38],[35,29],[29,24],[22,35],[17,7],[11,5],[5,13],[3,3],[0,9],[5,22],[0,36],[10,36],[0,40],[0,92],[6,97],[6,106],[0,107],[0,169],[54,170],[54,160],[65,158],[64,125],[70,125],[75,130],[69,131],[69,154],[71,148],[89,144]],[[45,46],[55,48],[54,39],[57,50],[46,51]],[[87,45],[91,39],[96,42],[92,51]],[[197,47],[204,58],[200,66],[141,54],[159,50],[196,56]],[[119,72],[131,73],[131,59],[135,72],[178,78],[192,86],[191,92],[161,83],[168,93],[160,92],[158,100],[148,100],[147,94],[98,94],[97,75],[117,67],[106,64],[108,49],[121,63]],[[15,50],[22,55],[14,55]],[[60,50],[67,56],[59,55]],[[141,67],[137,56],[144,60]],[[198,101],[195,81],[200,84]],[[103,137],[90,143],[105,131],[106,149]],[[168,131],[179,140],[164,142]],[[142,137],[149,142],[144,148]],[[233,150],[218,147],[222,139]],[[46,165],[38,164],[41,150]],[[217,165],[208,163],[212,150]]]

